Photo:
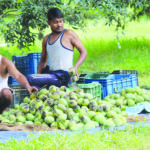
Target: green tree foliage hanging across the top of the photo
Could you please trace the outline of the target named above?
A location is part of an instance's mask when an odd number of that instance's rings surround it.
[[[73,28],[84,27],[87,19],[103,18],[106,25],[124,30],[128,21],[150,16],[149,0],[1,0],[0,30],[5,41],[22,48],[43,38],[51,7],[60,8]]]

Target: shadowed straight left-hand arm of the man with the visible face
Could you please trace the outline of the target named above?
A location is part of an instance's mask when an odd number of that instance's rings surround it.
[[[40,63],[38,65],[37,73],[42,73],[43,69],[46,67],[47,64],[47,51],[46,51],[46,42],[48,39],[48,35],[45,36],[42,42],[42,54],[41,54],[41,59]]]

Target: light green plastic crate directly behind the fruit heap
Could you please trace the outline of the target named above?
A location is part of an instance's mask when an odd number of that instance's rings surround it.
[[[90,93],[93,98],[101,98],[101,84],[90,83],[90,84],[77,84],[77,86],[83,89],[84,93]]]

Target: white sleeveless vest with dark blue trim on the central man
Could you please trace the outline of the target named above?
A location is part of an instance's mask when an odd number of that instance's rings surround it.
[[[47,53],[49,59],[50,70],[64,70],[69,71],[73,66],[73,50],[64,47],[62,44],[62,37],[65,32],[65,29],[59,35],[56,41],[50,44],[50,37],[47,40]]]

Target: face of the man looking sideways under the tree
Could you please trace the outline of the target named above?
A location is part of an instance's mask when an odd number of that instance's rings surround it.
[[[48,24],[50,25],[52,32],[60,33],[63,30],[64,21],[63,18],[55,18],[48,21]]]

